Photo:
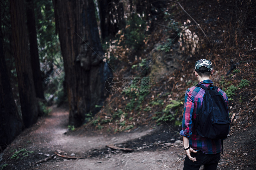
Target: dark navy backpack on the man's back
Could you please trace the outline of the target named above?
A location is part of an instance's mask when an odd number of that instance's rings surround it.
[[[197,113],[195,120],[196,131],[202,137],[222,139],[223,153],[223,139],[227,138],[230,125],[227,104],[218,93],[218,87],[214,85],[209,85],[208,88],[204,85],[196,86],[205,90],[202,109]]]

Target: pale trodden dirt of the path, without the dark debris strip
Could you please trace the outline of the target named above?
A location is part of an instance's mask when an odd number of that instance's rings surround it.
[[[86,155],[87,152],[106,148],[107,144],[120,144],[129,140],[138,139],[142,136],[154,133],[156,129],[141,129],[130,133],[115,135],[83,132],[82,135],[67,135],[68,111],[56,106],[51,107],[49,116],[40,119],[38,125],[32,127],[26,135],[24,142],[29,141],[30,150],[43,154],[53,154],[57,150],[74,153],[77,157]],[[35,129],[34,129],[35,128]],[[176,146],[176,147],[175,147]],[[88,157],[85,159],[64,159],[57,157],[29,169],[182,169],[184,152],[182,143],[175,145],[172,150],[143,151],[140,152],[115,152],[106,156]],[[179,148],[179,149],[178,149]],[[63,153],[61,153],[63,154]],[[46,157],[46,156],[45,156]]]

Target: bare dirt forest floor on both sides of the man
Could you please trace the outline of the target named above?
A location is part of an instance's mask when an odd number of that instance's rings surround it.
[[[48,116],[41,117],[4,150],[0,157],[4,169],[183,168],[182,138],[168,126],[145,126],[118,134],[103,133],[90,127],[69,131],[68,109],[56,105],[51,109]],[[230,136],[224,141],[224,154],[217,169],[255,169],[256,128],[240,123],[238,128],[231,129]],[[107,145],[133,151],[114,150]]]

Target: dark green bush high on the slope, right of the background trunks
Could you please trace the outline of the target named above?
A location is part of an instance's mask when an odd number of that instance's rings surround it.
[[[146,22],[142,17],[133,15],[133,18],[127,20],[127,26],[125,29],[125,41],[124,43],[132,49],[138,49],[143,44],[145,39]]]

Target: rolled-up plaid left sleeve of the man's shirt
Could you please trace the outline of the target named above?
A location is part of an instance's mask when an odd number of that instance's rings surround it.
[[[182,130],[179,132],[181,136],[192,135],[192,115],[194,109],[194,99],[191,91],[188,89],[185,93],[184,112],[182,118]]]

